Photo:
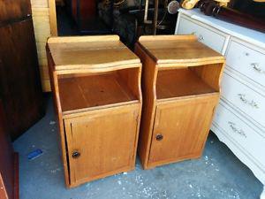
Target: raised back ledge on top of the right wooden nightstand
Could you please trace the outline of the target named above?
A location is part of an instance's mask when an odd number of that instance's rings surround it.
[[[157,42],[158,40],[191,40],[191,41],[197,41],[197,37],[193,34],[186,34],[186,35],[144,35],[140,36],[139,42],[144,42],[144,41],[155,41]]]

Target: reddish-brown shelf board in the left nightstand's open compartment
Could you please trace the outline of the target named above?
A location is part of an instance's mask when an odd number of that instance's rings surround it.
[[[64,114],[92,107],[137,102],[129,88],[118,80],[116,73],[61,78],[58,84]]]

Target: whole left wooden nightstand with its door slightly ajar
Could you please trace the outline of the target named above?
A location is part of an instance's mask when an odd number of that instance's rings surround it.
[[[140,59],[116,35],[47,44],[68,188],[133,170],[140,127]]]

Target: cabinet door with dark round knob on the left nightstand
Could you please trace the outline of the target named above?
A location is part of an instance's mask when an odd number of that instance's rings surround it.
[[[138,114],[133,104],[64,120],[72,185],[134,168]]]

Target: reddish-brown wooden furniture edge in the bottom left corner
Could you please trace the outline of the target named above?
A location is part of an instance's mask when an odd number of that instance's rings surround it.
[[[0,99],[0,198],[19,199],[19,156],[14,153]]]

